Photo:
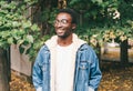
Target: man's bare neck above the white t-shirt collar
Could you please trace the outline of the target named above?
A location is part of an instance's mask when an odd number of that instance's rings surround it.
[[[66,47],[72,43],[72,34],[70,34],[68,38],[58,38],[58,44],[61,47]]]

